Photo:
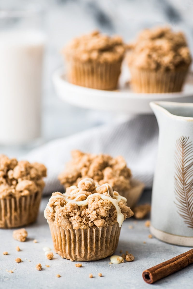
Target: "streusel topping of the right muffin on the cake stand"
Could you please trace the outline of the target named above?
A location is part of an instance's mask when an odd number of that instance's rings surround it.
[[[172,71],[187,68],[191,63],[184,34],[169,27],[145,29],[130,48],[129,65],[142,69]]]

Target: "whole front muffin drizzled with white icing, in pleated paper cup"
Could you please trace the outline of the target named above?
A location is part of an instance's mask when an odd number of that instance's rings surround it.
[[[123,220],[133,216],[126,199],[109,184],[85,178],[77,186],[55,192],[44,211],[54,250],[75,261],[93,261],[116,250]]]

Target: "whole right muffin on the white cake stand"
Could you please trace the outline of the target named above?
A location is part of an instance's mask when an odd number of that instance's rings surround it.
[[[155,27],[142,31],[136,42],[130,45],[127,62],[135,92],[179,92],[191,56],[182,32],[172,32],[169,27]]]

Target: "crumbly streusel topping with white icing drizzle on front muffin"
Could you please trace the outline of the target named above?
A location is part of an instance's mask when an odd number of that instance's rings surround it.
[[[44,211],[44,216],[63,229],[107,227],[133,216],[126,199],[112,190],[109,184],[99,186],[93,179],[85,178],[66,193],[54,192]]]

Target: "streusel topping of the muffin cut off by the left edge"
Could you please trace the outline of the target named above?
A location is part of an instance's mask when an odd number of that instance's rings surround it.
[[[39,192],[46,177],[43,164],[9,159],[0,155],[0,199],[8,196],[25,196]]]

